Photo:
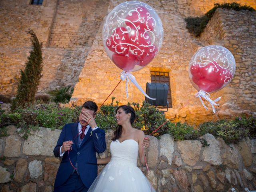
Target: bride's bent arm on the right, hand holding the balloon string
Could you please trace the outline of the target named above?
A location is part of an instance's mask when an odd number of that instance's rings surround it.
[[[146,157],[146,161],[148,161],[149,144],[150,144],[149,138],[145,137],[144,132],[141,131],[139,134],[139,154],[140,154],[140,163],[142,165],[146,164],[144,156]]]

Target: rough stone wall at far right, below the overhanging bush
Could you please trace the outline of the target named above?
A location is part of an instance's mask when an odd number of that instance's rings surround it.
[[[237,20],[236,18],[240,18]],[[231,109],[238,106],[255,111],[256,106],[256,12],[216,10],[201,38],[208,44],[219,44],[232,52],[236,60],[236,74],[228,91],[221,90],[230,98]],[[243,24],[240,26],[239,24]],[[218,29],[218,30],[216,30]],[[226,111],[227,112],[227,111]]]

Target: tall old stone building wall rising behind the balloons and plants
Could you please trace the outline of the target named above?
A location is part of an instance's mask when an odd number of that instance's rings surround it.
[[[29,5],[27,0],[0,2],[0,94],[14,96],[20,77],[19,70],[29,55],[27,28],[32,28],[43,42],[44,67],[38,94],[71,85],[75,87],[71,104],[94,100],[97,104],[107,98],[120,80],[121,70],[108,58],[102,45],[104,17],[121,0],[44,0],[42,6]],[[150,71],[168,72],[172,108],[166,117],[172,121],[199,124],[207,120],[234,118],[242,113],[256,112],[255,106],[255,12],[218,10],[201,38],[186,30],[184,17],[198,16],[222,0],[144,1],[156,10],[164,28],[164,41],[152,62],[133,72],[142,88],[151,82]],[[256,8],[254,0],[236,2]],[[188,78],[192,55],[209,44],[226,46],[234,54],[237,71],[234,80],[224,89],[212,94],[222,96],[216,114],[205,110],[194,97],[196,90]],[[119,84],[112,96],[120,104],[139,102],[144,95],[132,85],[126,98],[125,82]],[[106,103],[110,103],[108,99]],[[187,104],[182,110],[180,107]],[[210,106],[209,106],[210,107]],[[211,107],[210,107],[211,108]]]

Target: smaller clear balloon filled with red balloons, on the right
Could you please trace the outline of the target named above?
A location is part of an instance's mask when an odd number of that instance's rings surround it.
[[[234,77],[236,61],[232,53],[219,45],[198,50],[189,63],[189,78],[196,90],[211,93],[225,87]]]

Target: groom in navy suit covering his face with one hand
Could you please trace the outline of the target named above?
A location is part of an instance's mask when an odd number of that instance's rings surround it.
[[[96,152],[106,149],[105,132],[94,120],[97,109],[95,102],[87,101],[82,106],[79,122],[64,125],[53,150],[56,157],[62,157],[54,192],[87,192],[96,178]],[[82,129],[86,122],[88,125]]]

